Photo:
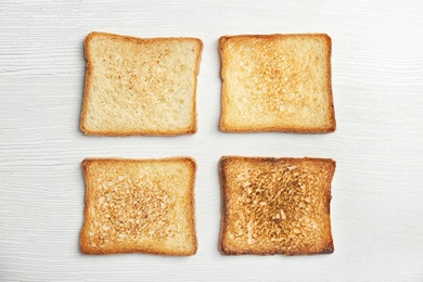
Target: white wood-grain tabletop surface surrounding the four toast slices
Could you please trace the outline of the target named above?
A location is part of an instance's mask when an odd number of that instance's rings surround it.
[[[0,280],[423,281],[423,2],[0,2]],[[91,30],[192,36],[205,48],[198,132],[92,138],[79,131]],[[222,35],[328,33],[337,130],[230,134],[218,130]],[[221,155],[337,161],[335,253],[218,253]],[[198,164],[200,248],[189,258],[79,252],[85,157],[190,155]]]

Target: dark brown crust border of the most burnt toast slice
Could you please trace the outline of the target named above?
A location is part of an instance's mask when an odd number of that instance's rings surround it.
[[[329,221],[328,225],[328,232],[326,238],[321,244],[322,246],[319,249],[287,249],[286,247],[267,247],[265,249],[260,248],[254,248],[254,249],[244,249],[242,247],[234,247],[233,244],[229,242],[229,225],[233,223],[231,222],[229,210],[233,207],[228,206],[228,203],[230,201],[231,194],[229,192],[228,187],[228,175],[226,167],[228,164],[232,161],[236,162],[248,162],[254,163],[256,165],[260,165],[266,162],[270,163],[279,163],[279,162],[285,162],[291,165],[300,164],[303,162],[316,162],[316,163],[322,163],[322,165],[328,170],[328,183],[329,189],[324,191],[323,194],[324,201],[328,203],[326,210],[328,210],[328,217]],[[294,256],[294,255],[317,255],[317,254],[332,254],[334,252],[334,244],[333,244],[333,238],[332,238],[332,231],[331,231],[331,220],[330,220],[330,202],[332,200],[331,195],[331,182],[333,175],[335,172],[336,162],[331,158],[294,158],[294,157],[245,157],[245,156],[222,156],[219,161],[219,180],[220,180],[220,187],[221,187],[221,223],[220,223],[220,239],[219,239],[219,251],[222,255],[260,255],[260,256],[267,256],[267,255],[286,255],[286,256]],[[268,240],[266,238],[260,238],[259,240]]]

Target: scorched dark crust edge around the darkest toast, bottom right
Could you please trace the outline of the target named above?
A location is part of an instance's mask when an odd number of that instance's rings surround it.
[[[328,201],[328,216],[329,216],[329,232],[328,232],[328,241],[325,242],[324,247],[319,252],[280,252],[278,249],[271,252],[258,252],[258,251],[233,251],[226,246],[226,232],[227,232],[227,188],[226,188],[226,172],[225,172],[225,164],[230,159],[243,159],[243,161],[313,161],[313,162],[323,162],[328,167],[329,177],[326,183],[329,184],[329,189],[326,191],[326,201]],[[332,158],[321,158],[321,157],[259,157],[259,156],[234,156],[227,155],[222,156],[219,159],[219,180],[221,185],[221,223],[220,223],[220,238],[219,238],[219,252],[222,255],[259,255],[259,256],[271,256],[271,255],[285,255],[285,256],[297,256],[297,255],[320,255],[320,254],[332,254],[334,253],[334,243],[332,236],[332,220],[331,220],[331,200],[332,200],[332,180],[336,168],[336,162]]]

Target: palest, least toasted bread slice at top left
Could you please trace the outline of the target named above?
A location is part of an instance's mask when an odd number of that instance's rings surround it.
[[[196,38],[91,33],[80,129],[93,136],[196,132]]]

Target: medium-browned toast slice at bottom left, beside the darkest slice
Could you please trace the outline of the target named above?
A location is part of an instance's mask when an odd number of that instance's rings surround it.
[[[92,158],[82,168],[82,253],[196,253],[194,159]]]

